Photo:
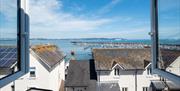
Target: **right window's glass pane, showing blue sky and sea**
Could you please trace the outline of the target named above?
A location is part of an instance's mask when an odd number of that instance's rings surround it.
[[[180,0],[159,0],[158,67],[180,76]]]

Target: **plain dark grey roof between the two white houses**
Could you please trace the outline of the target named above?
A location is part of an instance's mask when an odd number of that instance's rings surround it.
[[[96,80],[90,78],[93,74],[90,66],[89,61],[71,60],[65,87],[87,87],[87,91],[94,91],[92,89],[95,88],[92,85],[96,84]]]

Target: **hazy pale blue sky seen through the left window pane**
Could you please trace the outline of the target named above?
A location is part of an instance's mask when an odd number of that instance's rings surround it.
[[[0,36],[1,38],[17,37],[17,4],[16,0],[0,0]]]

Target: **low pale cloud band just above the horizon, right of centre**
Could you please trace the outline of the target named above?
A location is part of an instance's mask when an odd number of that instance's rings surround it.
[[[117,31],[97,31],[97,32],[91,32],[86,35],[80,35],[81,38],[91,38],[94,36],[94,38],[126,38],[126,39],[150,39],[150,36],[148,35],[148,30],[146,27],[138,27],[136,29],[134,28],[121,28]],[[75,36],[76,37],[76,36]],[[78,37],[77,37],[78,38]]]

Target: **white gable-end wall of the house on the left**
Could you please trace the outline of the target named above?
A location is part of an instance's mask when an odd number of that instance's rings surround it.
[[[15,81],[15,91],[25,91],[30,87],[44,88],[49,87],[49,72],[41,65],[32,54],[30,54],[30,67],[35,67],[36,77],[30,77],[30,73],[22,76]]]

